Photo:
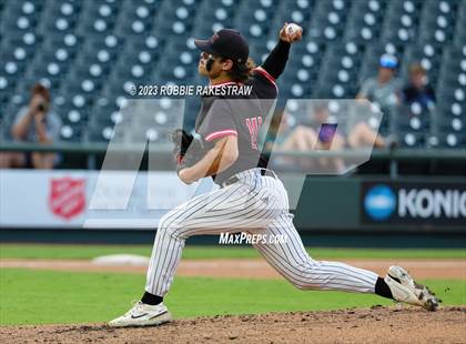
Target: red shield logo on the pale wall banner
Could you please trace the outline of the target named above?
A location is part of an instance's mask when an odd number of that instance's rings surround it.
[[[85,179],[51,179],[49,205],[53,214],[64,220],[81,214],[85,206]]]

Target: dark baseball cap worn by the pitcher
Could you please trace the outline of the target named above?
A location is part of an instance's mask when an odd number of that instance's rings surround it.
[[[194,40],[201,51],[232,59],[234,62],[246,62],[250,47],[246,39],[233,29],[222,29],[209,40]]]

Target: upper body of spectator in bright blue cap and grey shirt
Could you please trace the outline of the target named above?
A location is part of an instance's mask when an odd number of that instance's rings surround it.
[[[367,99],[381,110],[391,109],[398,103],[399,82],[395,79],[398,60],[391,54],[383,54],[379,60],[378,74],[363,82],[356,99]]]

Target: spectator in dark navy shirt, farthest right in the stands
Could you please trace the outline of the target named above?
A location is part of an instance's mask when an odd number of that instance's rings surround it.
[[[434,107],[435,92],[427,82],[426,70],[421,64],[409,67],[409,82],[401,91],[399,98],[408,105],[416,102],[426,110]]]

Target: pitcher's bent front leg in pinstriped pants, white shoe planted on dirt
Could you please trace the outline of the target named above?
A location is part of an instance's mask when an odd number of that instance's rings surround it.
[[[163,296],[173,282],[185,240],[260,225],[264,217],[274,216],[257,201],[264,194],[260,183],[244,181],[196,196],[165,214],[159,223],[141,302],[109,325],[145,326],[170,321]]]

